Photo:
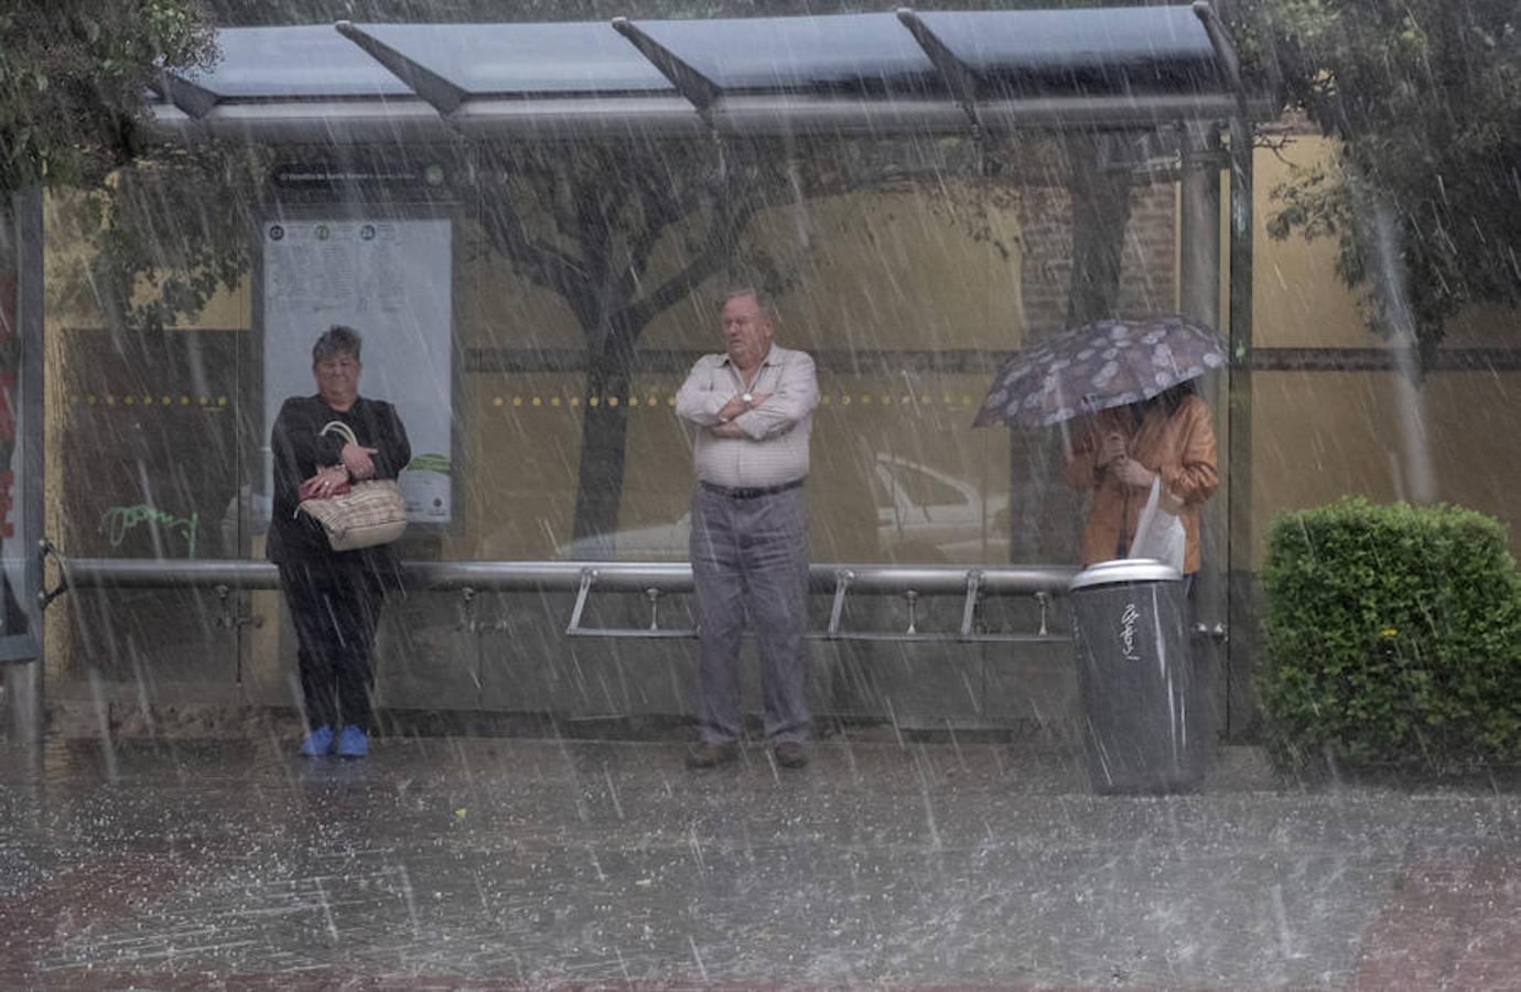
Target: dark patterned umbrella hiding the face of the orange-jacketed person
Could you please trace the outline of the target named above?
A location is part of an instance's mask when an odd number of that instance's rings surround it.
[[[1042,428],[1148,400],[1223,368],[1226,355],[1215,330],[1185,316],[1094,321],[1010,359],[972,426]]]

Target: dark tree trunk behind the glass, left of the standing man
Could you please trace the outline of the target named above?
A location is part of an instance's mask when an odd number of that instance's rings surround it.
[[[614,557],[618,508],[624,498],[634,342],[631,335],[619,333],[610,333],[604,341],[602,347],[592,345],[587,351],[587,402],[581,418],[581,466],[572,531],[581,542],[576,557],[583,560]]]

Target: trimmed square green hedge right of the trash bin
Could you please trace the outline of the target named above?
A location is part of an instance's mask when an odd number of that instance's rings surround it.
[[[1262,584],[1281,758],[1521,758],[1521,578],[1500,522],[1343,499],[1273,522]]]

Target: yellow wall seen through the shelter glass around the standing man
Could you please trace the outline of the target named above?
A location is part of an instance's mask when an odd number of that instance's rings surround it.
[[[1011,216],[992,222],[1005,245],[1016,245]],[[815,201],[757,218],[750,243],[779,256],[794,280],[776,301],[779,342],[878,353],[1016,347],[1019,259],[970,239],[964,224],[941,201],[914,190]],[[653,269],[660,272],[659,260]],[[490,262],[473,266],[467,285],[467,347],[581,347],[573,318],[552,294]],[[713,301],[722,289],[724,280],[715,278],[671,307],[645,329],[640,347],[721,350]],[[890,356],[884,365],[893,368]],[[686,513],[691,441],[671,409],[681,377],[643,374],[633,396],[611,397],[630,411],[621,528],[671,523]],[[826,370],[809,484],[814,555],[882,557],[868,479],[878,453],[1007,491],[1007,438],[969,429],[986,386],[981,376]],[[570,540],[581,405],[590,399],[583,389],[581,373],[467,377],[458,411],[465,424],[465,523],[447,540],[447,557],[552,557]],[[470,505],[476,494],[482,502]],[[1005,546],[990,536],[986,560],[999,560]]]

